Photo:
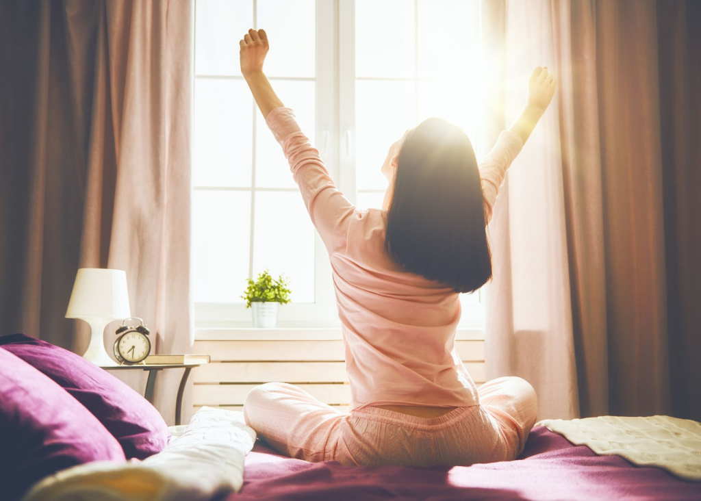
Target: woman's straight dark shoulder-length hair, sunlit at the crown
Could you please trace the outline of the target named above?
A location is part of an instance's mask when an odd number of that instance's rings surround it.
[[[472,292],[491,278],[482,184],[468,136],[429,118],[404,138],[385,248],[405,270]]]

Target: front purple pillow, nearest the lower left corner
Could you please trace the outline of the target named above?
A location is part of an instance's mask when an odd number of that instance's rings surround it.
[[[118,441],[62,387],[0,348],[0,497],[14,500],[45,476],[98,460],[124,461]]]

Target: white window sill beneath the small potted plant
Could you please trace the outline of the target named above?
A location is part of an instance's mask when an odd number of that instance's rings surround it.
[[[484,329],[458,329],[457,341],[483,341]],[[340,327],[250,327],[195,329],[195,341],[334,341],[342,339]]]

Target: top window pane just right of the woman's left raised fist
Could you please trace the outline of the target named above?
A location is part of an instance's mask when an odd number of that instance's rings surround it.
[[[270,42],[266,74],[315,76],[315,1],[258,0],[257,10],[258,28],[265,29]]]

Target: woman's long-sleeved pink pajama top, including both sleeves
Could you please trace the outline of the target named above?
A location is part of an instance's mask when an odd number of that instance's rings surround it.
[[[351,410],[367,405],[472,406],[477,388],[455,349],[458,294],[403,271],[385,252],[387,212],[357,209],[336,186],[290,108],[266,119],[331,259],[351,383]],[[498,188],[522,148],[504,131],[479,165],[491,220]]]

